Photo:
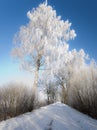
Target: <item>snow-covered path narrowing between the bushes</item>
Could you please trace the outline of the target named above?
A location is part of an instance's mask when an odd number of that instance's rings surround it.
[[[2,121],[0,130],[97,130],[97,120],[58,102]]]

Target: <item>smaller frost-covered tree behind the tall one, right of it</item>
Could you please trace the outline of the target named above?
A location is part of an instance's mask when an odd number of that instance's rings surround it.
[[[61,101],[66,103],[70,78],[74,76],[75,71],[86,65],[88,55],[85,54],[83,49],[69,51],[69,46],[67,46],[67,49],[66,47],[62,49],[64,51],[61,51],[61,58],[57,60],[56,66],[53,68],[53,76],[57,81],[57,85],[59,84],[62,88]]]

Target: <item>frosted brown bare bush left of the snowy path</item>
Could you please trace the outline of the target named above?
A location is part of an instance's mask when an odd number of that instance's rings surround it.
[[[34,95],[23,84],[10,83],[0,88],[0,120],[6,120],[34,108]]]

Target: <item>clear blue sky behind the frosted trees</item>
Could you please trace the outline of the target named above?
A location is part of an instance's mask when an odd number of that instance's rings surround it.
[[[14,34],[29,20],[27,11],[44,0],[0,0],[0,82],[14,79],[31,79],[31,75],[19,70],[10,56]],[[97,0],[48,0],[62,19],[69,20],[77,37],[70,41],[70,48],[83,48],[97,60]]]

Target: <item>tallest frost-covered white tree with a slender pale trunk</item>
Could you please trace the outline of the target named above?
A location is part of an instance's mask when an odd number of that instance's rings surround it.
[[[76,34],[70,29],[71,23],[57,16],[47,0],[36,9],[28,11],[27,16],[29,23],[21,26],[15,35],[12,55],[19,60],[23,69],[35,71],[36,89],[39,70],[49,68],[50,62],[57,60],[59,46],[62,48],[67,41],[74,39]]]

